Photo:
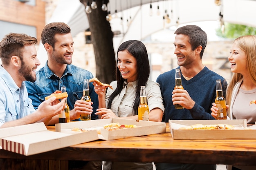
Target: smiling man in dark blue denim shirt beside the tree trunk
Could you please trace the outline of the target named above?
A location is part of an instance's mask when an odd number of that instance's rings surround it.
[[[32,99],[35,109],[45,100],[45,96],[65,86],[70,120],[79,119],[82,113],[91,114],[92,119],[98,119],[94,114],[99,105],[98,96],[92,83],[89,85],[92,102],[81,101],[84,79],[90,79],[93,75],[85,69],[71,65],[74,41],[70,27],[63,22],[49,23],[43,29],[41,37],[48,55],[47,63],[36,72],[37,80],[34,83],[26,82],[29,98]]]

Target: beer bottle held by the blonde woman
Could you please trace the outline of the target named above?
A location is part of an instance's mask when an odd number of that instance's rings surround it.
[[[218,108],[218,115],[216,119],[227,119],[226,101],[223,97],[221,80],[216,80],[216,107]]]

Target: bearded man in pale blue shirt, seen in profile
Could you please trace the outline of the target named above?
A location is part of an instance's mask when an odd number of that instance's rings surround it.
[[[35,81],[35,70],[40,65],[36,43],[36,38],[16,33],[6,35],[0,42],[0,128],[35,122],[47,125],[64,110],[65,100],[59,103],[56,97],[49,98],[35,110],[28,97],[24,81]]]

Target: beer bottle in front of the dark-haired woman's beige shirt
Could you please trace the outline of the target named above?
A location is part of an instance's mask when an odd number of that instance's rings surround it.
[[[142,121],[149,121],[149,109],[147,104],[146,86],[140,87],[138,119]]]

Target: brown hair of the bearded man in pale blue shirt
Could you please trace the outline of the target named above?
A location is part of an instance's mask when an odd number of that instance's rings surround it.
[[[22,60],[24,45],[35,45],[37,39],[27,34],[10,33],[0,42],[0,58],[2,65],[9,65],[12,56],[20,57]]]

